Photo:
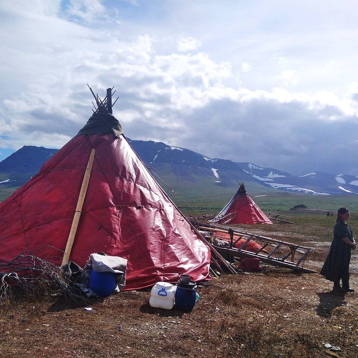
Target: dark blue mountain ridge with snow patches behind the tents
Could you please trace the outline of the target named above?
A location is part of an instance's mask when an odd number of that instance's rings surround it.
[[[252,163],[209,158],[192,150],[162,142],[128,139],[150,171],[170,187],[215,192],[238,188],[238,182],[256,191],[286,191],[312,195],[357,195],[358,177],[314,172],[295,176]],[[0,162],[0,185],[19,187],[36,174],[58,149],[24,146]]]

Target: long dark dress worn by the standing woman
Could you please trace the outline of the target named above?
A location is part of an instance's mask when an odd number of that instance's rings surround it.
[[[333,241],[328,256],[320,272],[329,281],[349,280],[351,246],[342,241],[343,237],[353,242],[352,229],[347,223],[338,220],[333,228]]]

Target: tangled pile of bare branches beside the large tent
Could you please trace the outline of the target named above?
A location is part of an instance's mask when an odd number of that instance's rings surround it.
[[[9,299],[19,288],[38,296],[50,291],[53,295],[64,295],[71,302],[86,301],[81,290],[59,267],[39,257],[21,254],[8,263],[0,263],[0,272],[0,301]]]

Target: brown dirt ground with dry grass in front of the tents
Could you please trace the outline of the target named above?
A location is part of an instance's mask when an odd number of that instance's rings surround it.
[[[282,226],[270,230],[297,242]],[[315,249],[306,266],[319,271],[329,243],[307,235],[305,241]],[[357,267],[354,252],[356,288]],[[200,299],[191,313],[152,308],[150,290],[77,307],[51,296],[2,301],[0,356],[358,357],[357,293],[333,294],[331,282],[319,274],[272,266],[265,273],[221,275],[212,283],[198,286]],[[327,350],[326,343],[340,350]]]

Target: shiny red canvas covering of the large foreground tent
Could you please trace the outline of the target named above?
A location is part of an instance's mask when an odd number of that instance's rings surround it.
[[[126,290],[210,278],[210,249],[146,170],[124,135],[81,134],[0,204],[0,263],[27,252],[61,265],[92,149],[95,157],[70,260],[128,260]]]

